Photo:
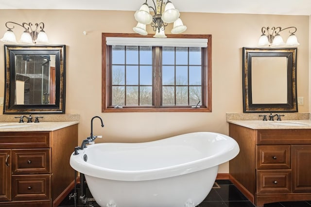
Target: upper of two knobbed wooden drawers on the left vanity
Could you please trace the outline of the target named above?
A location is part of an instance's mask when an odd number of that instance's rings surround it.
[[[12,174],[48,174],[50,167],[50,149],[14,149],[12,150]]]

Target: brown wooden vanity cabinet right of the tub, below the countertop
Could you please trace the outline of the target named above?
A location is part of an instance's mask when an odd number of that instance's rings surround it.
[[[229,123],[240,146],[229,177],[257,207],[311,200],[311,129],[251,129]]]

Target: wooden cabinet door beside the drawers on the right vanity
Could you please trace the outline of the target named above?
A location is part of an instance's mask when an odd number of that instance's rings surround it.
[[[292,145],[293,192],[311,192],[311,145]]]

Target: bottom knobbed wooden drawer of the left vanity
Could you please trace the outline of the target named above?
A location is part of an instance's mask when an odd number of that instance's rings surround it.
[[[12,200],[51,198],[51,175],[12,175]]]

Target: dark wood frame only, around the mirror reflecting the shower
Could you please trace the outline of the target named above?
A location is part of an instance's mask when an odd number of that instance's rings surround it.
[[[3,114],[65,113],[66,46],[18,46],[4,45],[5,88]],[[55,56],[55,94],[51,104],[16,104],[16,57],[17,55]],[[41,80],[42,81],[42,80]]]

